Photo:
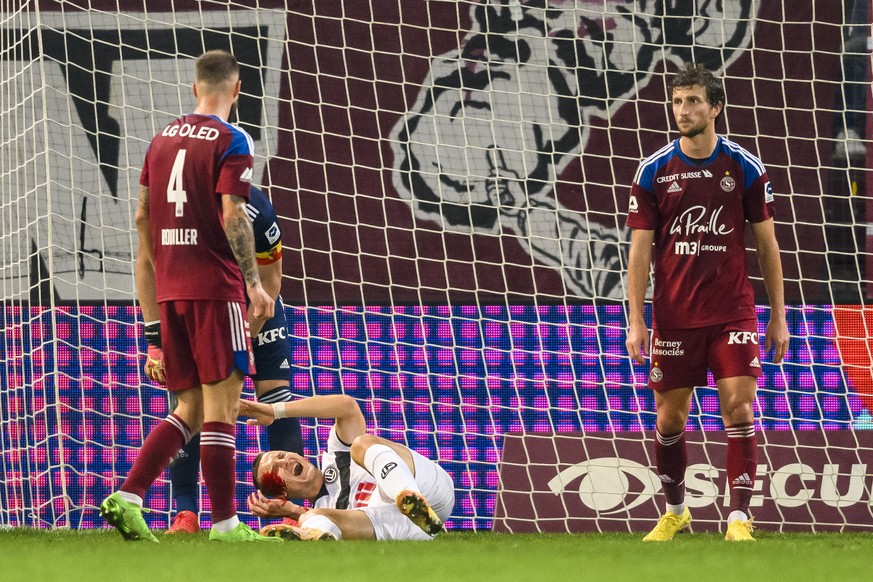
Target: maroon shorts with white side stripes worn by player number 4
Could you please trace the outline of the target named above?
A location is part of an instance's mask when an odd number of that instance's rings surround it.
[[[171,392],[224,380],[235,368],[255,373],[245,303],[161,303],[161,343]]]

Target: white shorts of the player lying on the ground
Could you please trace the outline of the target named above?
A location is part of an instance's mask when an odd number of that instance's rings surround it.
[[[455,484],[446,470],[437,463],[415,451],[410,452],[415,463],[415,482],[431,509],[445,522],[455,507]],[[433,536],[424,533],[412,520],[400,513],[394,503],[362,507],[360,511],[373,523],[377,540],[433,539]]]

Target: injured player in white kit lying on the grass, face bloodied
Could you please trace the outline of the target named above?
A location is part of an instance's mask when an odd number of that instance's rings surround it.
[[[289,517],[299,526],[269,525],[263,535],[295,540],[430,540],[455,504],[455,486],[434,461],[407,447],[366,434],[358,403],[349,396],[313,396],[294,402],[240,401],[248,424],[277,418],[334,418],[316,467],[286,451],[261,453],[252,464],[258,489],[249,508],[259,517]],[[313,508],[288,499],[309,499]]]

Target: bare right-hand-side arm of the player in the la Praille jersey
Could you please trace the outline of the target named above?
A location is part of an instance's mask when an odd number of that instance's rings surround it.
[[[761,266],[761,275],[764,277],[764,287],[770,299],[770,321],[767,323],[764,350],[769,353],[770,348],[775,348],[773,363],[778,364],[788,351],[790,336],[788,323],[785,320],[782,259],[779,256],[779,243],[776,240],[773,219],[752,223],[752,233],[755,235],[755,248],[758,264]]]

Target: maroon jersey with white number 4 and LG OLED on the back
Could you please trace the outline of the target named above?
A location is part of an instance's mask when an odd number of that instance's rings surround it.
[[[211,115],[185,115],[152,139],[140,184],[149,188],[158,302],[245,301],[221,195],[249,197],[252,154],[245,131]]]

